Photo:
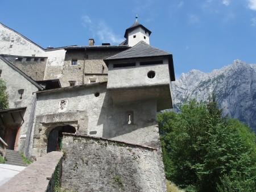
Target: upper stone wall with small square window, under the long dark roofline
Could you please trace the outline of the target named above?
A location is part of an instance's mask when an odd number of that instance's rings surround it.
[[[70,86],[69,81],[75,81],[76,85],[82,84],[82,78],[84,76],[84,84],[89,84],[92,80],[96,82],[106,81],[108,77],[108,67],[106,66],[103,59],[112,56],[122,51],[117,49],[68,49],[65,53],[64,63],[62,68],[52,66],[48,68],[46,77],[49,78],[55,73],[61,74],[59,76],[61,86]],[[77,65],[72,65],[72,60],[77,60]],[[49,71],[51,69],[51,72]],[[85,74],[83,74],[85,73]]]

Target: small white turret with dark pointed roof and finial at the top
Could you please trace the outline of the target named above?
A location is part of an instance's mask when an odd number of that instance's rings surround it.
[[[135,23],[125,31],[126,43],[130,47],[133,47],[139,43],[139,41],[144,41],[145,43],[150,44],[150,34],[151,31],[144,27],[142,24],[139,24],[138,16],[136,16]]]

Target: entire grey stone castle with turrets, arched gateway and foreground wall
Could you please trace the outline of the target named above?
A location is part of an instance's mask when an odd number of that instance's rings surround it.
[[[86,173],[88,191],[111,191],[118,172],[127,177],[122,190],[165,191],[156,112],[172,108],[175,74],[172,55],[152,47],[150,35],[136,20],[119,45],[89,39],[86,46],[44,49],[0,23],[0,72],[10,107],[0,111],[0,136],[9,149],[34,158],[65,150],[68,189],[85,186],[67,173]],[[81,169],[70,165],[74,159]],[[92,180],[103,173],[104,182]]]

